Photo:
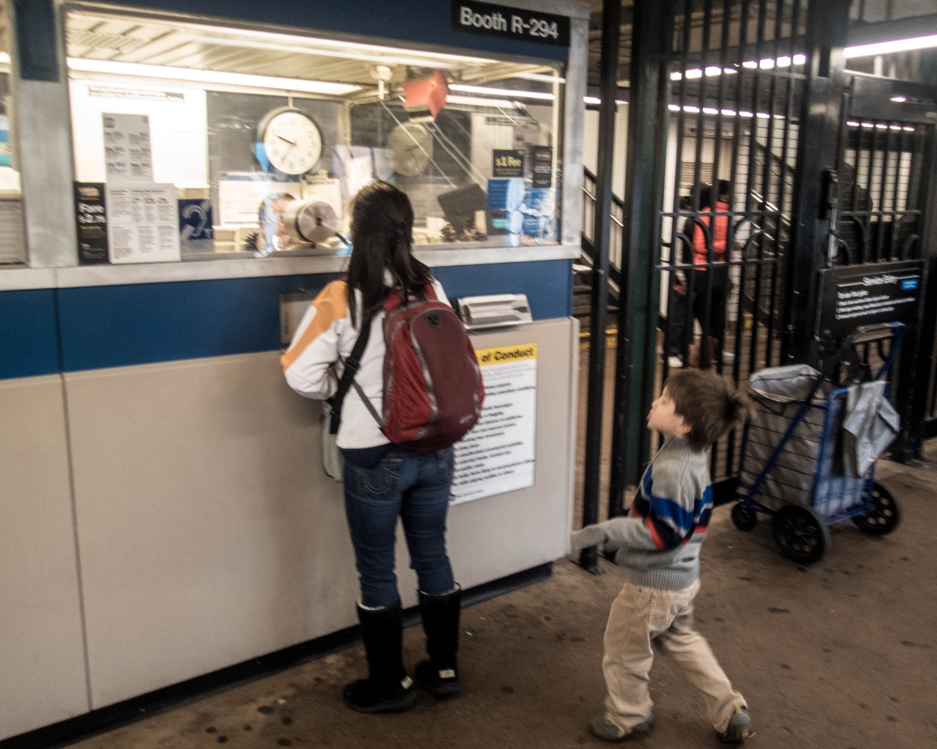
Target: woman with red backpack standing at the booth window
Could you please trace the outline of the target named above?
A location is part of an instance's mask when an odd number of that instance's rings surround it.
[[[416,680],[436,697],[459,690],[461,588],[446,553],[446,513],[452,446],[478,419],[484,391],[442,286],[411,254],[412,228],[405,193],[386,182],[362,188],[351,212],[348,278],[322,289],[282,359],[290,387],[331,399],[334,424],[340,419],[335,443],[345,461],[368,665],[368,677],[348,684],[343,698],[359,712],[405,710],[417,697],[401,654],[398,517],[419,580],[429,654]]]

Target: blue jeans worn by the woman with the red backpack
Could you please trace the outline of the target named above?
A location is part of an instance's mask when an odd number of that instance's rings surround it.
[[[363,606],[391,607],[400,600],[394,575],[397,516],[420,590],[442,595],[455,587],[446,554],[453,464],[453,448],[428,455],[394,449],[373,468],[345,463],[345,513]]]

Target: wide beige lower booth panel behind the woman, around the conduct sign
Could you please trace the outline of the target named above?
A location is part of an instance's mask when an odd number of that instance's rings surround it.
[[[457,580],[568,551],[574,320],[473,336],[536,343],[535,485],[453,508]],[[95,708],[354,624],[342,487],[321,470],[319,404],[276,352],[66,375]],[[518,534],[517,529],[524,528]],[[416,600],[397,545],[405,606]]]

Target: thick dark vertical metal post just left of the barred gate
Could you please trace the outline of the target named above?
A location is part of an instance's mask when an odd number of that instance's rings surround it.
[[[643,438],[647,390],[653,388],[660,272],[659,212],[663,200],[662,163],[669,110],[662,72],[674,18],[671,2],[635,3],[632,74],[628,105],[628,158],[622,231],[621,295],[618,302],[615,405],[609,515],[623,507],[625,487],[636,483],[650,446]]]

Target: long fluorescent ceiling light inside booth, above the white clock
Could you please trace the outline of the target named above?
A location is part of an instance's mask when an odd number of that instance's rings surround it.
[[[281,91],[299,91],[305,94],[331,94],[338,96],[350,94],[352,91],[359,91],[361,89],[361,86],[355,86],[350,83],[305,81],[300,78],[256,76],[248,73],[199,70],[193,67],[117,63],[111,60],[86,60],[81,57],[69,57],[68,67],[71,70],[79,70],[84,73],[110,73],[114,75],[136,76],[138,78],[161,78],[170,81],[217,83],[219,85],[248,86],[250,88],[273,88]]]

